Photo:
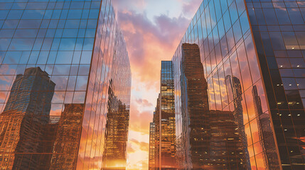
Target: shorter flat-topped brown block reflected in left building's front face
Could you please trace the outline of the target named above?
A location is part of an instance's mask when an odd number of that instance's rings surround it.
[[[53,155],[50,159],[50,169],[75,169],[77,162],[77,147],[81,132],[84,104],[65,104],[60,115],[58,130],[53,139]],[[48,134],[48,133],[46,133]]]

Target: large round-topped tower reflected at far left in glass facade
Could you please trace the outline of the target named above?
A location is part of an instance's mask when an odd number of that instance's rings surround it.
[[[2,169],[48,169],[57,125],[49,124],[55,84],[41,68],[18,74],[0,115]]]

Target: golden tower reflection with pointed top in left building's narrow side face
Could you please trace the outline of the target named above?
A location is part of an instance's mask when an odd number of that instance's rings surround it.
[[[114,95],[112,80],[109,83],[105,151],[103,169],[126,169],[129,109]]]

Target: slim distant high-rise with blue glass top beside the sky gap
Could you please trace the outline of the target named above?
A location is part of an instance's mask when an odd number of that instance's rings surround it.
[[[176,169],[176,125],[173,94],[173,65],[161,62],[160,94],[154,113],[156,169]]]

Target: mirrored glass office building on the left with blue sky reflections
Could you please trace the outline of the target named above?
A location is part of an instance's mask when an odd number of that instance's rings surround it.
[[[0,1],[1,169],[102,169],[113,111],[127,139],[130,86],[110,0]]]

